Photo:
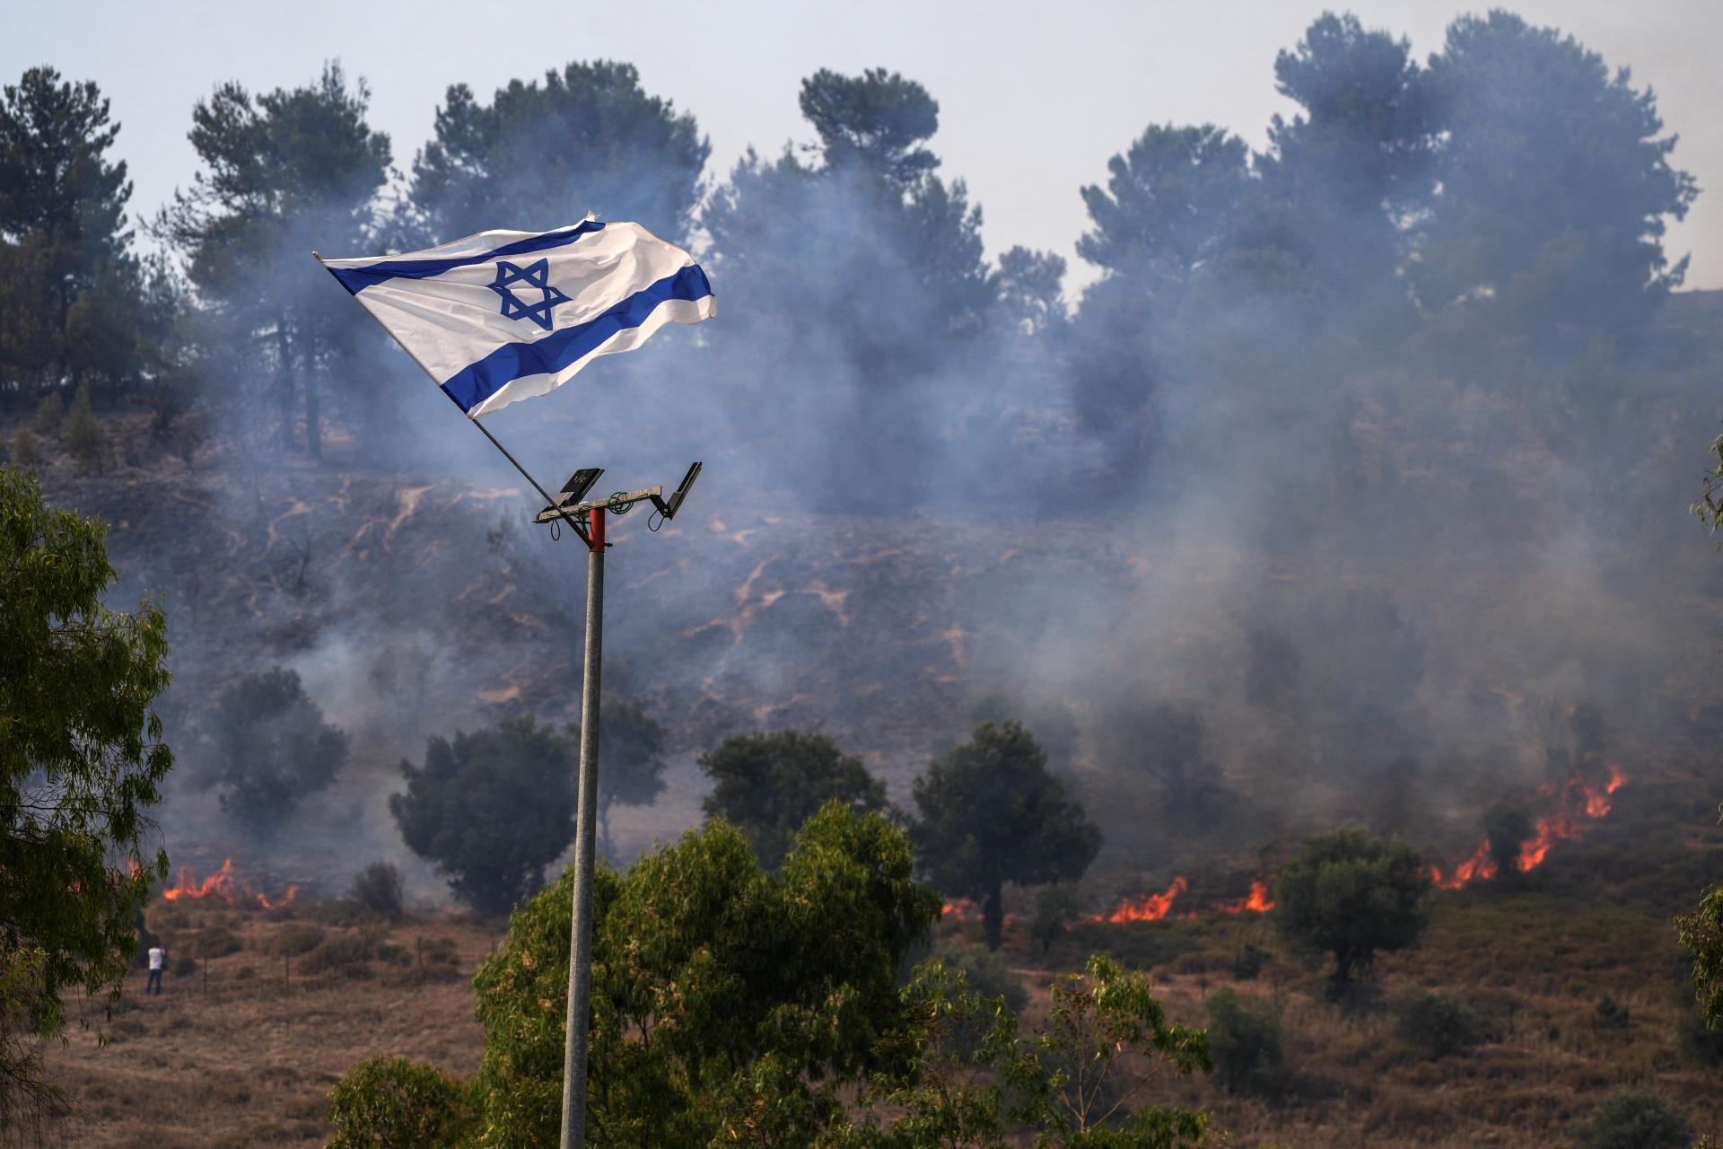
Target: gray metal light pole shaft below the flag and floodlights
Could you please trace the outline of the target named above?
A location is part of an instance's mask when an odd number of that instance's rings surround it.
[[[569,922],[569,1023],[562,1054],[562,1149],[586,1147],[588,1011],[593,989],[593,854],[598,830],[598,694],[605,630],[605,508],[593,508],[586,550],[586,670],[581,680],[581,786]]]

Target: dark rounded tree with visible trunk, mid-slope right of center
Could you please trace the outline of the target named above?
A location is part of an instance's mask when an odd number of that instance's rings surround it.
[[[1006,882],[1073,882],[1101,849],[1101,830],[1017,722],[979,725],[927,767],[913,794],[920,865],[946,894],[982,903],[989,949],[999,947]]]

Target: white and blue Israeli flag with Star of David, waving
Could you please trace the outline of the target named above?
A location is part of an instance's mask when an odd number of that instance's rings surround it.
[[[326,260],[467,419],[569,382],[665,324],[712,319],[706,272],[639,224],[481,231],[424,252]]]

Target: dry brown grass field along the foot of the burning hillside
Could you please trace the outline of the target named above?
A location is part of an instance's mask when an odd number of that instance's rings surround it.
[[[1423,942],[1380,958],[1344,1006],[1328,1001],[1320,958],[1249,913],[1082,922],[1046,953],[1015,918],[1003,958],[1030,989],[1030,1020],[1051,978],[1092,951],[1151,970],[1180,1022],[1206,1025],[1204,999],[1222,987],[1277,1003],[1285,1056],[1273,1089],[1235,1096],[1197,1078],[1148,1094],[1213,1109],[1239,1146],[1564,1146],[1618,1085],[1649,1087],[1697,1132],[1718,1132],[1723,1042],[1694,1027],[1668,922],[1707,875],[1723,875],[1713,817],[1701,779],[1637,784],[1616,815],[1532,875],[1437,892]],[[446,913],[376,923],[345,903],[181,901],[152,904],[148,925],[181,968],[159,997],[143,996],[136,972],[109,1022],[90,1011],[90,1025],[50,1051],[74,1111],[47,1144],[319,1146],[329,1085],[353,1063],[393,1054],[462,1075],[479,1065],[470,977],[501,923]],[[937,932],[944,944],[980,944],[975,920]],[[1254,972],[1239,961],[1246,946],[1266,954]],[[1477,1044],[1432,1058],[1408,1040],[1397,1003],[1418,991],[1458,999]]]

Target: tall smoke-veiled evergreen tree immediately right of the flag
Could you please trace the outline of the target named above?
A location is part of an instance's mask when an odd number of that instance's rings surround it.
[[[777,458],[798,482],[832,475],[841,489],[820,494],[853,500],[879,491],[853,477],[889,455],[901,496],[937,458],[929,408],[989,326],[980,208],[934,174],[939,105],[922,84],[820,71],[801,110],[810,155],[750,152],[701,217],[713,281],[736,301],[715,370],[751,431],[789,448]]]

